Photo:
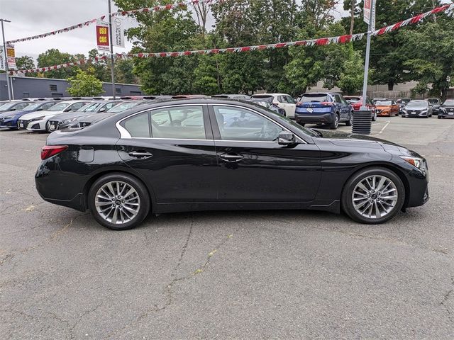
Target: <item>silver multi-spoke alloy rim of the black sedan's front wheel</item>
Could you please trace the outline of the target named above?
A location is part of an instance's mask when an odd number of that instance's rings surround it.
[[[396,206],[398,195],[397,186],[391,179],[382,175],[367,176],[353,189],[353,208],[362,217],[384,217]]]

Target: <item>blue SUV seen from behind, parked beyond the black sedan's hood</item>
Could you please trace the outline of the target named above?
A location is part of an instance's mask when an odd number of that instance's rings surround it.
[[[295,120],[301,125],[323,124],[332,130],[339,123],[353,123],[353,107],[336,92],[314,92],[301,94],[297,99]]]

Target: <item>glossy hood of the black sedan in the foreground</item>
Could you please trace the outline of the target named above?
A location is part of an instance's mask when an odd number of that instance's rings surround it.
[[[365,147],[370,149],[384,149],[385,151],[400,152],[402,154],[410,154],[411,151],[402,145],[398,145],[389,140],[370,137],[367,135],[355,135],[353,133],[341,131],[320,131],[323,135],[323,140],[329,140],[333,145],[340,147]]]

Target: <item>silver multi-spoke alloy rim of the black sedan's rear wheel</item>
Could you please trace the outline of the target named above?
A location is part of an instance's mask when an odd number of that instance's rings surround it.
[[[94,200],[99,215],[107,222],[117,225],[130,222],[140,210],[138,192],[123,181],[105,183],[96,192]]]

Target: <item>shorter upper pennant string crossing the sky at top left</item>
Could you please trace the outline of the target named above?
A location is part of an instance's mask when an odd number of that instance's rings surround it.
[[[225,0],[221,0],[225,1]],[[218,2],[221,2],[218,1]],[[164,6],[154,6],[154,7],[147,7],[147,8],[138,8],[138,9],[133,9],[131,11],[119,11],[116,13],[112,13],[111,16],[130,16],[133,14],[138,14],[138,13],[150,13],[150,12],[159,12],[159,11],[170,11],[175,8],[182,8],[188,5],[196,5],[196,4],[201,4],[205,3],[208,5],[211,5],[214,3],[214,0],[189,0],[189,1],[179,1],[177,4],[168,4]],[[24,41],[31,41],[31,40],[36,40],[36,39],[41,39],[41,38],[46,38],[50,37],[51,35],[57,35],[60,33],[66,33],[69,32],[70,30],[76,30],[77,28],[84,28],[85,26],[92,25],[93,23],[96,23],[96,21],[103,21],[106,16],[101,16],[99,18],[94,18],[89,21],[85,21],[84,23],[77,23],[76,25],[65,27],[65,28],[60,28],[60,30],[52,30],[52,32],[48,33],[43,33],[43,34],[38,34],[38,35],[32,35],[31,37],[26,37],[26,38],[20,38],[16,40],[10,40],[7,41],[7,44],[15,44],[16,42],[24,42]]]

